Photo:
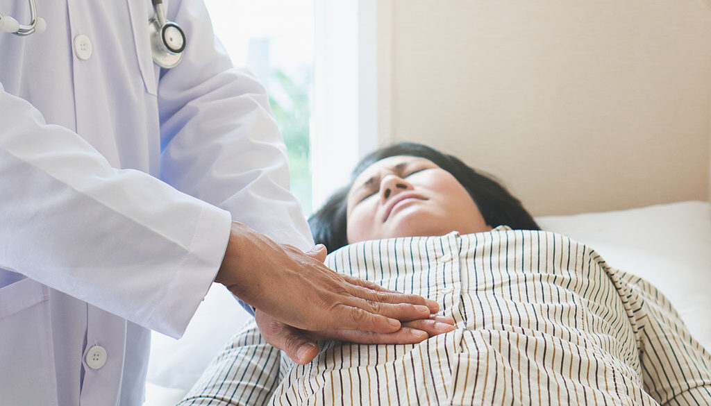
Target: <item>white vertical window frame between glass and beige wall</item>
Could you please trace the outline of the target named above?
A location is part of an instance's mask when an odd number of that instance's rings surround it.
[[[314,210],[392,142],[392,0],[314,0]]]

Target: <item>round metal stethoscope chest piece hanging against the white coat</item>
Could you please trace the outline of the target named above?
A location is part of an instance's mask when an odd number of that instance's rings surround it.
[[[156,16],[149,20],[153,61],[162,68],[173,68],[183,59],[186,38],[183,29],[173,21],[166,21],[162,1],[154,0]]]

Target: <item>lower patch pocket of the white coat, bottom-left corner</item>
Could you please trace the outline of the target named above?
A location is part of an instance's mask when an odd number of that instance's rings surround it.
[[[57,404],[48,299],[48,287],[28,278],[0,288],[3,404]]]

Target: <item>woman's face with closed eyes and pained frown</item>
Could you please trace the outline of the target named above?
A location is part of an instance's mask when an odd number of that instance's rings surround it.
[[[491,230],[464,186],[429,159],[391,156],[368,166],[348,192],[348,243]]]

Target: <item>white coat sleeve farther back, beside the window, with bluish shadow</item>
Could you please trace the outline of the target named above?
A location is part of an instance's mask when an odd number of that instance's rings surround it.
[[[202,1],[169,4],[187,44],[161,70],[161,178],[230,211],[277,242],[310,250],[301,205],[289,191],[287,152],[262,85],[232,68]]]

